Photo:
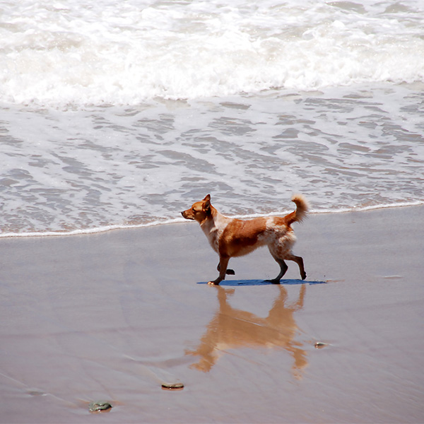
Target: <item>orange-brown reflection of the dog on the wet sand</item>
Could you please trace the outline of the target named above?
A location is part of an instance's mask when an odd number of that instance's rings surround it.
[[[300,379],[302,370],[307,366],[307,358],[302,343],[295,340],[299,330],[293,314],[303,307],[306,285],[301,285],[298,300],[288,305],[287,290],[283,285],[278,285],[278,289],[278,297],[273,302],[268,317],[261,318],[233,308],[228,302],[228,295],[234,293],[234,290],[217,286],[219,310],[208,324],[196,350],[186,351],[187,355],[200,356],[199,362],[192,367],[208,372],[223,351],[229,349],[283,348],[292,355],[293,375]]]

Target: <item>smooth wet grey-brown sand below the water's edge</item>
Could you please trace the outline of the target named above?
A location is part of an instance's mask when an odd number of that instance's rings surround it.
[[[0,240],[0,422],[423,423],[424,207],[295,231],[220,287],[192,222]]]

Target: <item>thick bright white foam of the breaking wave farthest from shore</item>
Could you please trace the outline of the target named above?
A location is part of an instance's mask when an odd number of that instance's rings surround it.
[[[0,101],[138,105],[424,81],[423,11],[423,1],[6,1]]]

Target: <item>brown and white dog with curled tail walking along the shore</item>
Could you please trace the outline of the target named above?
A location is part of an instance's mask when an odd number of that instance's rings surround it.
[[[298,264],[300,276],[305,280],[303,259],[291,252],[296,237],[290,225],[305,218],[308,205],[301,194],[295,194],[292,201],[296,204],[296,210],[283,217],[271,216],[249,220],[228,218],[211,205],[210,194],[203,200],[196,201],[187,211],[183,211],[181,214],[184,218],[196,220],[200,224],[213,250],[219,255],[219,276],[208,284],[218,285],[225,279],[225,274],[235,273],[232,269],[227,269],[231,257],[249,254],[261,246],[268,246],[273,259],[280,265],[280,273],[270,280],[271,283],[278,284],[287,271],[285,259]]]

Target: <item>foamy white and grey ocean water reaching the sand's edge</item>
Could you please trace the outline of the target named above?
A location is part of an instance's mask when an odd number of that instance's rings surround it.
[[[2,1],[0,236],[424,204],[424,1]]]

